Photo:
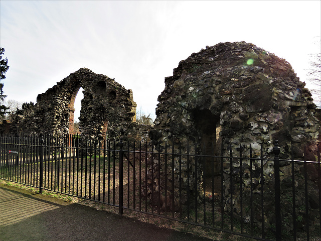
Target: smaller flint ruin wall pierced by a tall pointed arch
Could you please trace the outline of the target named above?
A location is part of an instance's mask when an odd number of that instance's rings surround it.
[[[74,102],[82,87],[80,131],[83,136],[100,139],[125,134],[135,121],[136,103],[132,91],[114,79],[81,68],[37,97],[35,132],[71,134],[74,123]]]

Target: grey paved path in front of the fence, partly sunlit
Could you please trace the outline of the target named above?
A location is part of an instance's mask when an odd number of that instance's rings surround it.
[[[0,240],[208,241],[107,211],[0,185]]]

